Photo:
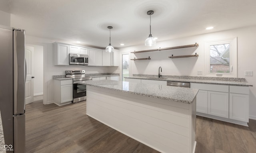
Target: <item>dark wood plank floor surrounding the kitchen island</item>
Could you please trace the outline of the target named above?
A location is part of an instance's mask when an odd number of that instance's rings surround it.
[[[255,153],[256,121],[249,127],[197,116],[196,153]],[[26,153],[158,153],[86,116],[86,101],[26,105]]]

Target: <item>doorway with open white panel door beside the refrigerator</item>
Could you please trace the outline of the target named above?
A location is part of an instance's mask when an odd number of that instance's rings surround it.
[[[26,104],[43,100],[44,96],[44,46],[25,45],[27,68]]]

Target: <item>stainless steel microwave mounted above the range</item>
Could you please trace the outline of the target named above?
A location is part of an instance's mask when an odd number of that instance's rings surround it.
[[[88,55],[84,54],[69,54],[70,65],[88,65]]]

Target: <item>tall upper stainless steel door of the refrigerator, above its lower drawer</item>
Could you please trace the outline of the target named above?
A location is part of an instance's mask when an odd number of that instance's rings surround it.
[[[25,31],[13,30],[13,115],[25,113]]]

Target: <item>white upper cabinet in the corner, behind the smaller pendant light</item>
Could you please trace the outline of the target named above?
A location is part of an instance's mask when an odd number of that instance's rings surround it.
[[[119,50],[115,49],[114,53],[102,50],[102,66],[119,66]]]

